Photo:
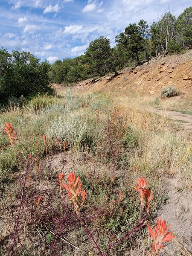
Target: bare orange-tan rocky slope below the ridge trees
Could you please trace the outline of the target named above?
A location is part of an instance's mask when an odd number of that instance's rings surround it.
[[[153,58],[141,66],[122,70],[115,78],[87,79],[73,89],[78,93],[105,91],[118,96],[136,92],[138,95],[159,96],[162,88],[170,85],[177,87],[182,97],[192,99],[192,50],[183,55]],[[58,84],[53,87],[63,90]]]

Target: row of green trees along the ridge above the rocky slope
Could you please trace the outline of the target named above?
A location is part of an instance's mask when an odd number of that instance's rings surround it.
[[[192,6],[177,19],[167,11],[151,26],[146,20],[129,24],[115,41],[116,45],[111,47],[110,40],[100,36],[90,42],[84,55],[55,61],[49,70],[49,80],[72,84],[111,72],[117,75],[117,70],[140,65],[149,61],[151,56],[182,53],[192,48]]]

